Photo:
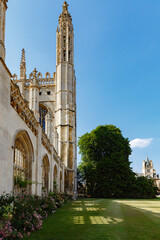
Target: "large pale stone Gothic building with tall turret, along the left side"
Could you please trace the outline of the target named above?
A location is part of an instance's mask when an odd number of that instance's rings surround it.
[[[0,0],[0,194],[76,192],[76,77],[74,31],[65,1],[57,27],[56,72],[34,69],[27,78],[22,50],[20,78],[5,63],[5,14]]]

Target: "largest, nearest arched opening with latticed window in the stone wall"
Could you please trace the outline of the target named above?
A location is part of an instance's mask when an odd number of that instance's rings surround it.
[[[30,194],[32,186],[33,146],[26,131],[17,133],[14,142],[13,192]]]

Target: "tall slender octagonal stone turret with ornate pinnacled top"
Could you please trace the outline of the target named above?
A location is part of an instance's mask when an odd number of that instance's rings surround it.
[[[74,70],[74,33],[65,1],[57,27],[56,128],[59,156],[66,165],[65,187],[76,191],[76,78]]]

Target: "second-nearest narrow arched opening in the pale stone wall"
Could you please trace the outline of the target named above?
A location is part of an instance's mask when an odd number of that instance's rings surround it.
[[[42,191],[49,192],[49,159],[47,155],[42,161]]]

